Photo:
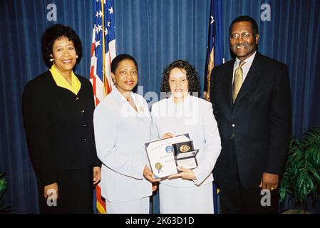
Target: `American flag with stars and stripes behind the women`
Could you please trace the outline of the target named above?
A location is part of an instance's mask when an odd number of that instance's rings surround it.
[[[90,81],[98,105],[113,89],[110,63],[115,58],[115,16],[112,0],[93,0],[93,7],[96,14],[92,31]],[[100,214],[106,213],[100,184],[96,186],[96,206]]]

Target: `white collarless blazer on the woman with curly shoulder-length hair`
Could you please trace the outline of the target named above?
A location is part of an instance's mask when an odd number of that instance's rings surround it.
[[[172,187],[205,185],[213,181],[212,170],[220,155],[221,141],[217,121],[212,113],[212,104],[191,95],[184,103],[176,104],[172,96],[153,104],[151,116],[151,140],[162,138],[165,133],[182,135],[189,133],[197,153],[198,167],[193,171],[197,180],[163,180],[161,184]]]

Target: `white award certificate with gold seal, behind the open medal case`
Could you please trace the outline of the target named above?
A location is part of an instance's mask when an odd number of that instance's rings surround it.
[[[178,172],[172,145],[186,141],[190,141],[189,134],[145,143],[145,150],[155,178],[165,179]]]

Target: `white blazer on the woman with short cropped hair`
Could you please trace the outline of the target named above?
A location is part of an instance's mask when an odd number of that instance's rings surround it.
[[[138,113],[114,88],[93,114],[97,155],[101,169],[101,195],[112,202],[126,202],[152,195],[143,177],[149,166],[145,142],[150,141],[151,118],[145,99],[131,93]]]

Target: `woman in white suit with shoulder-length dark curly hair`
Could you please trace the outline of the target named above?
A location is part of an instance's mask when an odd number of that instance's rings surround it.
[[[152,140],[189,133],[198,167],[179,167],[180,172],[160,182],[160,213],[213,213],[212,170],[221,142],[212,104],[197,98],[200,91],[195,68],[177,60],[162,73],[162,92],[170,97],[153,104]]]

